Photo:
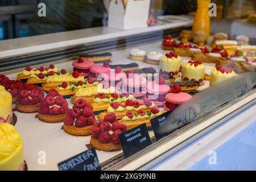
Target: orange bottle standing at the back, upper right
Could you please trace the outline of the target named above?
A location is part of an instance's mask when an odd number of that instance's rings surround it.
[[[197,0],[197,10],[192,28],[193,33],[197,30],[203,30],[206,35],[210,35],[209,4],[210,0]]]

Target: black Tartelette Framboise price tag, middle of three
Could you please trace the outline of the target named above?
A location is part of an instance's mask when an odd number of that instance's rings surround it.
[[[120,134],[119,140],[125,158],[129,158],[152,144],[145,123]]]

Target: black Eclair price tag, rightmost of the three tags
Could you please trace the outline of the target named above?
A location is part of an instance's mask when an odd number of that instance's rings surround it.
[[[159,140],[159,139],[166,137],[167,135],[170,134],[170,132],[166,130],[166,128],[167,128],[166,125],[168,125],[166,119],[171,112],[172,112],[172,110],[167,111],[166,113],[163,113],[163,114],[159,115],[158,117],[155,117],[150,120],[156,140]]]

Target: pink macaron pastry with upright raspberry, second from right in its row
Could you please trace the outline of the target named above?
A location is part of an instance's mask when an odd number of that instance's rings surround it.
[[[166,85],[164,78],[162,76],[156,77],[154,82],[147,82],[146,98],[153,101],[157,106],[164,106],[169,90],[170,87]]]

